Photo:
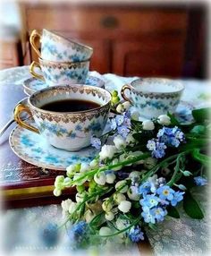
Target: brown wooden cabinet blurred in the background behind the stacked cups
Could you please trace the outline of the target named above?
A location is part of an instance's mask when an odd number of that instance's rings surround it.
[[[22,4],[26,42],[55,30],[94,48],[90,70],[122,76],[184,74],[190,9],[164,5]],[[30,58],[38,56],[30,47]],[[191,60],[189,60],[191,62]],[[194,70],[190,73],[194,76]]]

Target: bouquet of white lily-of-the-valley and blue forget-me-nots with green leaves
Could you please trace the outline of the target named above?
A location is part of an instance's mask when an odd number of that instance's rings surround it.
[[[107,242],[139,243],[146,226],[156,228],[167,216],[203,218],[191,195],[193,186],[207,184],[210,124],[207,108],[192,111],[194,121],[182,124],[174,115],[139,121],[113,92],[111,131],[92,138],[99,153],[89,165],[68,166],[55,179],[55,196],[75,187],[75,200],[62,202],[68,235],[78,246]]]

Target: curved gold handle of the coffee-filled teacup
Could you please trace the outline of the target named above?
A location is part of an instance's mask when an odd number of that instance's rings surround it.
[[[14,109],[14,120],[17,124],[19,124],[22,128],[28,129],[31,132],[39,133],[38,128],[35,128],[34,126],[25,123],[21,120],[21,112],[27,112],[30,116],[32,116],[30,112],[30,108],[26,107],[25,105],[19,104]]]

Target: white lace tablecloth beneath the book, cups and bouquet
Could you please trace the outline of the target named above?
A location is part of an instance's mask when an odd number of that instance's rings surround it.
[[[100,75],[97,72],[90,72],[90,75],[97,76],[105,81],[105,89],[121,90],[124,83],[130,82],[135,78],[123,78],[111,73]],[[0,72],[0,86],[16,84],[22,86],[22,81],[30,77],[29,67],[22,66],[7,69]],[[211,99],[211,84],[209,81],[181,81],[185,85],[182,100],[190,102],[195,107],[204,107]],[[181,209],[181,218],[167,218],[159,224],[156,230],[148,229],[147,235],[155,255],[210,255],[211,249],[209,240],[209,230],[211,228],[211,217],[208,215],[207,192],[193,192],[200,201],[202,209],[207,214],[203,220],[193,220]],[[60,243],[56,248],[46,247],[42,240],[41,230],[49,222],[61,223],[62,211],[59,205],[36,207],[29,209],[8,209],[1,217],[2,225],[2,249],[9,255],[31,255],[38,252],[50,252],[51,255],[68,255],[70,248],[66,235],[60,237]],[[116,245],[115,245],[116,246]],[[96,252],[90,248],[86,255],[110,255],[109,251],[103,249]],[[139,255],[136,246],[127,250],[118,247],[114,255]],[[7,254],[7,255],[8,255]],[[85,252],[74,252],[75,255],[85,255]]]

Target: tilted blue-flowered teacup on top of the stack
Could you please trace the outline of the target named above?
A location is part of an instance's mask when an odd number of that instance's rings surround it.
[[[41,41],[41,52],[36,46],[37,38]],[[92,47],[63,38],[45,29],[42,35],[37,30],[31,32],[30,45],[39,57],[55,62],[80,62],[88,60],[93,54]]]

